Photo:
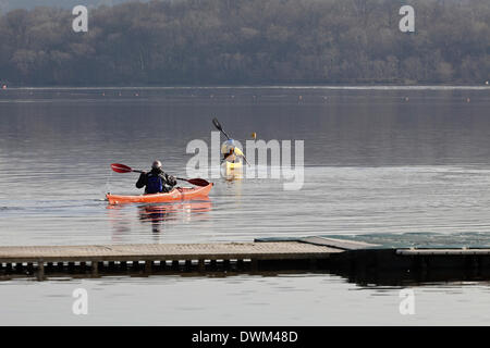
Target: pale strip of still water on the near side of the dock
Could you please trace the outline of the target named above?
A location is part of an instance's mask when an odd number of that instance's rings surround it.
[[[464,286],[463,286],[464,285]],[[73,315],[73,290],[89,294]],[[198,290],[196,290],[198,289]],[[0,325],[483,325],[490,287],[454,282],[413,288],[415,314],[400,314],[400,286],[359,287],[329,274],[231,277],[112,276],[15,279],[0,286]],[[49,309],[49,310],[47,310]]]

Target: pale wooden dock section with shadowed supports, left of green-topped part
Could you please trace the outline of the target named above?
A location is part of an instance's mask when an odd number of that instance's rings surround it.
[[[122,270],[257,270],[259,263],[304,269],[341,249],[298,241],[0,247],[0,272],[112,273]],[[279,266],[279,265],[278,265]],[[281,268],[281,266],[279,266]]]

